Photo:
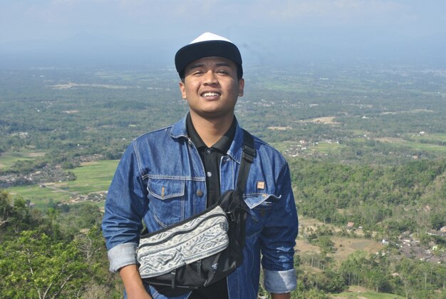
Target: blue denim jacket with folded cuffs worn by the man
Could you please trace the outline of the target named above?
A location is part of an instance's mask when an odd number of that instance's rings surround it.
[[[243,131],[220,161],[221,193],[234,189],[242,158]],[[294,245],[298,220],[289,167],[281,154],[254,137],[244,201],[247,218],[244,262],[227,277],[229,298],[256,298],[260,263],[271,293],[296,288]],[[135,264],[141,219],[149,231],[189,218],[206,208],[206,178],[197,148],[187,137],[186,118],[136,138],[125,151],[108,190],[103,234],[110,270]],[[165,298],[147,286],[155,298]],[[187,298],[189,294],[178,298]]]

